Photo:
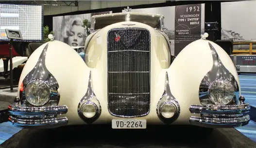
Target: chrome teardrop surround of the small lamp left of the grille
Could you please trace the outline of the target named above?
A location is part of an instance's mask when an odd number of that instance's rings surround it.
[[[94,117],[92,118],[86,118],[83,113],[82,113],[82,106],[83,104],[93,104],[96,105],[97,109],[96,109],[96,114]],[[96,98],[93,90],[92,90],[92,83],[91,83],[91,71],[89,74],[89,80],[88,80],[88,88],[87,91],[85,93],[85,96],[82,98],[82,100],[79,102],[78,104],[78,115],[81,119],[83,119],[87,124],[91,124],[94,121],[96,121],[102,113],[102,107],[100,102],[98,101],[98,99]]]

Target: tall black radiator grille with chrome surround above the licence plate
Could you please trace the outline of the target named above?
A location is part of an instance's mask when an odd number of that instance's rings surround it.
[[[120,40],[115,38],[119,35]],[[146,116],[150,110],[150,32],[108,32],[108,110],[117,117]]]

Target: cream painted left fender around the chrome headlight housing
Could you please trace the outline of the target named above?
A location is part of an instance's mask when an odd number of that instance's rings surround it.
[[[86,68],[84,60],[68,44],[55,40],[38,47],[24,66],[18,90],[25,76],[34,68],[46,44],[49,46],[45,64],[59,84],[60,102],[58,105],[72,106],[68,108],[68,113],[65,114],[69,124],[79,124],[79,121],[84,123],[78,116],[77,106],[86,93],[89,70]]]

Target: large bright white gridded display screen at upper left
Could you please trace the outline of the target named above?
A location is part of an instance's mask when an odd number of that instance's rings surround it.
[[[43,5],[0,3],[0,41],[5,29],[20,30],[23,41],[43,41]]]

